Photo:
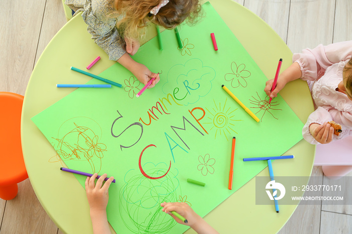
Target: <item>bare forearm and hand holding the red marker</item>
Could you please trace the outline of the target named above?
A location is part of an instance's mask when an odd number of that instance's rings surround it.
[[[301,76],[302,76],[301,68],[297,62],[294,62],[293,64],[291,64],[291,66],[289,66],[285,71],[283,71],[279,75],[278,81],[276,83],[276,88],[273,90],[273,92],[272,92],[272,87],[273,87],[274,79],[268,80],[266,82],[264,91],[267,93],[268,96],[272,98],[277,97],[280,90],[283,89],[288,82],[297,80],[301,78]]]

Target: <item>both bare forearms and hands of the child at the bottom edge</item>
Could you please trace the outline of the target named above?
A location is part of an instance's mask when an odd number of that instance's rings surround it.
[[[90,206],[90,214],[93,225],[93,233],[111,233],[108,217],[106,213],[106,207],[109,201],[109,187],[114,177],[110,177],[103,185],[104,179],[107,174],[103,174],[95,184],[95,180],[98,174],[95,173],[92,177],[85,179],[85,192],[87,200]],[[176,211],[188,220],[186,225],[191,226],[197,233],[218,233],[212,226],[210,226],[203,218],[201,218],[187,203],[172,202],[162,203],[162,211],[169,213],[170,211]],[[185,224],[179,218],[176,218],[173,214],[170,214],[177,222]]]

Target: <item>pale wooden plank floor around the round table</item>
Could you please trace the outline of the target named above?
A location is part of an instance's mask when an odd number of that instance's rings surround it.
[[[352,40],[351,0],[236,2],[267,22],[293,53]],[[65,23],[61,0],[0,1],[0,91],[25,94],[40,54]],[[312,175],[324,183],[321,167],[314,167]],[[351,232],[351,206],[299,205],[279,233]],[[0,199],[0,234],[13,233],[62,233],[45,213],[28,179],[19,183],[15,199]]]

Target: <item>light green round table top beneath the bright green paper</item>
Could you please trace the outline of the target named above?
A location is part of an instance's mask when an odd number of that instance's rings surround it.
[[[292,60],[292,52],[278,34],[255,14],[231,0],[209,1],[234,35],[251,55],[260,69],[269,78],[274,78],[273,67],[278,58],[285,62],[281,71]],[[149,33],[149,38],[156,35]],[[146,38],[148,40],[148,38]],[[39,58],[26,90],[22,111],[22,148],[26,168],[33,189],[50,218],[64,233],[93,233],[89,204],[85,191],[73,175],[63,179],[58,170],[64,165],[54,148],[31,121],[31,118],[60,100],[72,89],[57,89],[57,83],[72,83],[69,69],[57,67],[86,67],[81,58],[102,57],[99,66],[90,72],[99,74],[113,65],[108,56],[91,39],[80,15],[70,20],[51,40]],[[93,59],[92,59],[93,60]],[[56,69],[54,69],[56,68]],[[75,82],[85,83],[86,77],[77,77]],[[263,84],[264,88],[265,84]],[[314,111],[306,82],[296,80],[280,92],[286,102],[305,123]],[[277,160],[273,163],[276,176],[310,176],[314,162],[315,146],[301,140],[285,155],[299,155],[290,163]],[[263,170],[259,176],[269,176]],[[308,184],[308,179],[307,179]],[[280,213],[273,212],[269,205],[255,205],[255,178],[237,190],[228,199],[205,216],[220,233],[276,233],[291,217],[297,205],[280,205]],[[186,233],[194,233],[192,229]]]

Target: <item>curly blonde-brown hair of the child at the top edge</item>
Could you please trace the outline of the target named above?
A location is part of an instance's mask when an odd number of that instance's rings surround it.
[[[199,0],[169,0],[156,15],[150,10],[160,0],[115,0],[113,15],[123,15],[117,22],[120,34],[130,39],[141,39],[145,35],[148,22],[173,29],[187,19],[188,24],[195,24],[201,13]]]

